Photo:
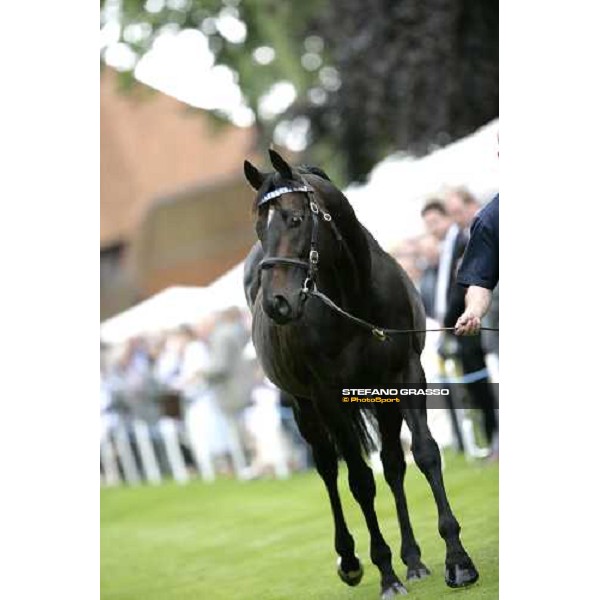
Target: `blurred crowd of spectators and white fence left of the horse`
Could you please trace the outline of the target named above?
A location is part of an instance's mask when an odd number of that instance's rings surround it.
[[[107,483],[199,475],[287,477],[307,466],[291,408],[262,374],[248,313],[101,350],[101,463]]]

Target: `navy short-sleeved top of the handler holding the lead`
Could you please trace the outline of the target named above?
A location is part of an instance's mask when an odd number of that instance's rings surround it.
[[[499,278],[499,194],[475,217],[457,282],[493,290]]]

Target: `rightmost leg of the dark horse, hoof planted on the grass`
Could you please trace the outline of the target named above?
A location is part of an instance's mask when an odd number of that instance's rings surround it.
[[[418,379],[411,378],[410,381],[424,384],[425,376],[418,360],[415,373]],[[412,433],[415,462],[431,486],[438,509],[438,529],[446,542],[446,584],[453,588],[470,585],[479,579],[479,573],[460,541],[460,525],[448,502],[440,451],[427,425],[425,403],[418,408],[407,408],[404,412]]]

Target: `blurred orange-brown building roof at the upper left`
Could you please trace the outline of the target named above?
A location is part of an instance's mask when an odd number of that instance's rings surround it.
[[[159,196],[240,174],[252,154],[251,128],[217,125],[198,109],[140,83],[100,85],[100,244],[129,241]]]

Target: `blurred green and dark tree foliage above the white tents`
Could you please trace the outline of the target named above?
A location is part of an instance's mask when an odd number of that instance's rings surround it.
[[[278,124],[304,120],[305,160],[338,183],[364,180],[390,152],[423,154],[498,115],[498,0],[101,0],[102,18],[109,4],[138,58],[165,28],[201,30],[215,62],[236,74],[259,144]],[[227,15],[245,24],[243,40],[219,28]],[[135,41],[132,25],[144,32]],[[274,51],[268,64],[257,60],[264,47]],[[282,80],[295,102],[261,117],[261,97]]]

